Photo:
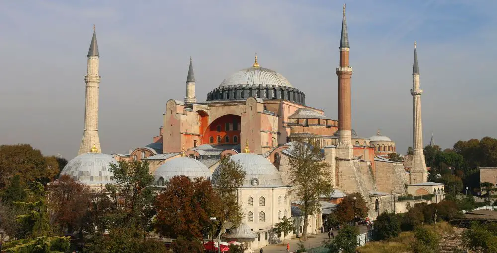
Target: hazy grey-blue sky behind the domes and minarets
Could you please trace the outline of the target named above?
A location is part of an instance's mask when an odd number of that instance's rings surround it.
[[[424,144],[497,137],[497,1],[346,0],[352,127],[412,146],[417,40]],[[0,1],[0,144],[76,156],[86,54],[96,25],[103,153],[152,142],[183,100],[190,56],[197,101],[254,53],[337,119],[342,4],[335,0]]]

